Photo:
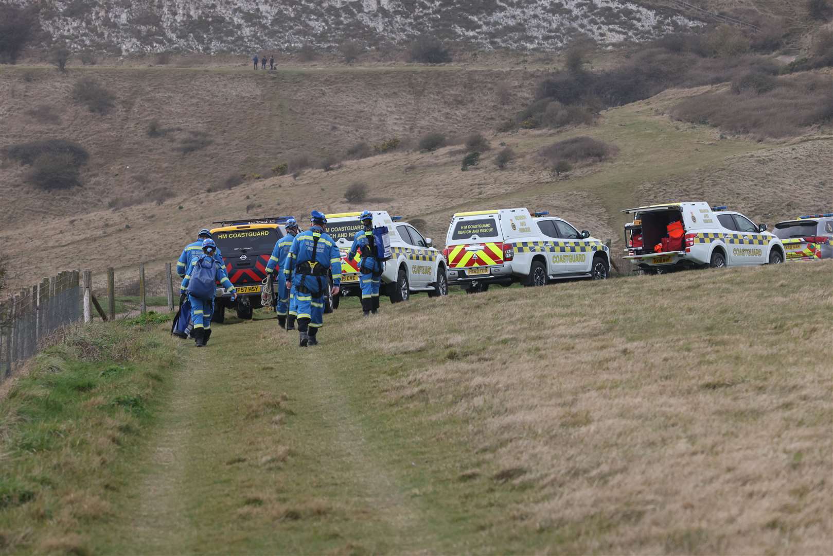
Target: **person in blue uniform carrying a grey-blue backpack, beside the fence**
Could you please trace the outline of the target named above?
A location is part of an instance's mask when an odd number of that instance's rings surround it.
[[[201,257],[192,258],[191,266],[182,277],[180,296],[181,303],[186,295],[191,303],[191,319],[194,324],[191,335],[197,348],[202,348],[211,338],[215,283],[219,281],[223,288],[232,293],[232,301],[237,298],[237,290],[228,279],[226,268],[217,261],[217,245],[213,239],[208,238],[202,242],[202,253]]]

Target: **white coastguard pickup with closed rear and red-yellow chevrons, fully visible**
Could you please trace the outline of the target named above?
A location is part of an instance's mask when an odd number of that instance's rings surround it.
[[[449,283],[474,293],[492,283],[543,286],[555,279],[607,278],[606,245],[548,214],[526,208],[456,213],[443,251]]]

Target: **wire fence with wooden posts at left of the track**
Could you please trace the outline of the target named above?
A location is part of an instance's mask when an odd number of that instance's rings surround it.
[[[147,281],[145,265],[140,263],[137,270],[120,272],[117,284],[115,271],[108,268],[107,277],[99,276],[95,286],[90,271],[66,271],[0,300],[0,383],[68,324],[130,318],[153,308],[172,310],[171,264],[165,263],[164,272],[160,265]]]

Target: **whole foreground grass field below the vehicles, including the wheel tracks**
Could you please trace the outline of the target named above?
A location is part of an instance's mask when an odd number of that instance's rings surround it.
[[[831,271],[91,328],[0,406],[0,551],[826,553]]]

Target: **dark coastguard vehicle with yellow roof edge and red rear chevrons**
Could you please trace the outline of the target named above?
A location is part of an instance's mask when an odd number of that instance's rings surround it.
[[[289,217],[224,220],[215,222],[212,228],[214,243],[226,263],[228,279],[237,288],[237,301],[217,286],[212,321],[222,323],[226,308],[237,309],[238,318],[252,318],[252,311],[261,308],[262,281],[266,278],[266,265],[277,240],[286,234],[283,223]]]

